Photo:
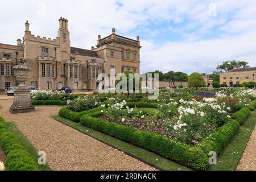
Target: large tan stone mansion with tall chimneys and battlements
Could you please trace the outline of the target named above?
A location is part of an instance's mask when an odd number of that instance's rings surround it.
[[[23,40],[18,39],[16,46],[0,43],[0,92],[17,85],[13,67],[20,57],[31,68],[27,86],[42,90],[69,86],[81,91],[96,89],[99,73],[139,73],[140,48],[139,36],[125,38],[114,28],[105,38],[98,35],[96,47],[90,50],[71,47],[67,19],[59,19],[56,39],[32,35],[27,21]]]

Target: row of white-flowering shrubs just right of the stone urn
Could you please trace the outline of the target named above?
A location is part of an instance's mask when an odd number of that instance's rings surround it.
[[[64,91],[52,90],[36,90],[30,93],[32,100],[72,100],[75,96],[73,94],[65,93]]]

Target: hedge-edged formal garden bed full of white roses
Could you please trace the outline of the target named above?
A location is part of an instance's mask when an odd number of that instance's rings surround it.
[[[209,97],[164,89],[150,102],[147,94],[104,97],[69,100],[59,115],[193,169],[209,167],[208,152],[220,153],[256,105],[255,91],[245,88],[218,89]]]

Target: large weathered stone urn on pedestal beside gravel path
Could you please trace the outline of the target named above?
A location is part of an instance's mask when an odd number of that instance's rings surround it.
[[[30,68],[27,67],[26,60],[21,58],[18,64],[13,67],[16,80],[18,81],[18,88],[14,91],[13,105],[10,107],[10,113],[27,113],[35,111],[30,101],[30,90],[25,85],[28,78]]]

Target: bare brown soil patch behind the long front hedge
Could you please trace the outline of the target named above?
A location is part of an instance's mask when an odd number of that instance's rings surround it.
[[[106,121],[111,121],[110,118],[106,117],[106,115],[100,115],[99,118],[105,119]],[[154,132],[156,134],[163,135],[167,138],[174,138],[173,135],[171,135],[167,130],[166,126],[164,126],[164,123],[160,119],[154,119],[154,120],[145,120],[140,118],[131,118],[131,119],[125,119],[124,122],[116,122],[121,125],[125,126],[131,126],[138,130],[144,130],[149,132]]]

